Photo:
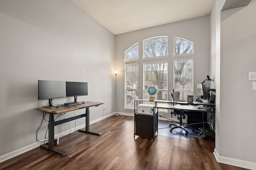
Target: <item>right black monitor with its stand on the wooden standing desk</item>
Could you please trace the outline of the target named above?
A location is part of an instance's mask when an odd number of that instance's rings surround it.
[[[77,102],[78,96],[88,96],[87,82],[66,82],[66,97],[74,97]]]

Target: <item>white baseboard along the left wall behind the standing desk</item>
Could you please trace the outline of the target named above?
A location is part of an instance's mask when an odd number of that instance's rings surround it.
[[[108,115],[104,115],[104,116],[102,116],[102,117],[100,117],[98,119],[95,119],[93,121],[90,121],[90,125],[92,125],[92,124],[94,124],[94,123],[96,123],[98,121],[101,121],[103,119],[106,119],[107,117],[110,117],[112,115],[114,115],[114,113],[110,113]],[[80,125],[80,126],[77,126],[76,128],[72,128],[71,131],[72,132],[73,131],[77,131],[78,129],[82,129],[84,127],[85,127],[85,123]],[[67,131],[64,131],[62,133],[54,135],[54,138],[58,138],[58,137],[61,138],[61,137],[64,137],[64,136],[68,135],[69,133],[70,133],[70,130],[67,130]],[[44,142],[44,140],[42,140],[40,142],[32,143],[31,145],[28,145],[26,147],[23,147],[23,148],[14,150],[12,152],[9,152],[7,154],[4,154],[4,155],[0,156],[0,163],[6,161],[8,159],[14,158],[15,156],[18,156],[18,155],[23,154],[25,152],[28,152],[29,150],[35,149],[37,147],[40,147],[40,145],[42,145],[43,142]],[[61,142],[61,140],[60,140],[60,142]]]

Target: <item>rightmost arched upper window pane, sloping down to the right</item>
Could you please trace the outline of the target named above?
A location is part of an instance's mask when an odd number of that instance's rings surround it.
[[[180,37],[174,37],[174,55],[194,54],[194,43]]]

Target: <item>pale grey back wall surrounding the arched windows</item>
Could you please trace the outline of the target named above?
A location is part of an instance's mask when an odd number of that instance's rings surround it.
[[[160,25],[138,31],[132,31],[116,35],[116,69],[122,70],[118,74],[118,112],[134,114],[134,109],[124,109],[124,53],[135,43],[139,43],[139,86],[143,86],[143,64],[156,61],[155,59],[142,60],[143,40],[156,36],[168,36],[168,94],[173,89],[173,60],[175,59],[194,59],[194,97],[197,95],[197,85],[204,81],[210,73],[210,19],[203,16],[185,21]],[[194,42],[194,55],[173,57],[173,37],[181,37]],[[127,62],[128,63],[128,62]],[[140,88],[139,87],[139,88]],[[169,98],[169,95],[168,95]],[[139,92],[139,99],[142,99],[142,90]],[[166,115],[170,117],[170,115]]]

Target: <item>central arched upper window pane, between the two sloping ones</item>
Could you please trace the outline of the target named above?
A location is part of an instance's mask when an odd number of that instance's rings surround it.
[[[145,39],[144,45],[144,58],[147,57],[160,57],[168,55],[168,37],[153,37]]]

